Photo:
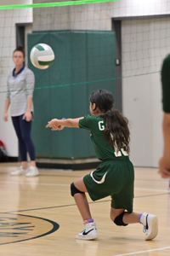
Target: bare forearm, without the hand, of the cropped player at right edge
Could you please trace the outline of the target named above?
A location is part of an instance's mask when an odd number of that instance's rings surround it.
[[[167,114],[163,118],[163,159],[167,169],[170,169],[170,119]]]

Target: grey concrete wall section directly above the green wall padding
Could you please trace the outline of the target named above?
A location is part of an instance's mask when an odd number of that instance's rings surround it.
[[[34,3],[63,2],[34,0]],[[33,31],[62,29],[111,30],[111,3],[33,9]]]

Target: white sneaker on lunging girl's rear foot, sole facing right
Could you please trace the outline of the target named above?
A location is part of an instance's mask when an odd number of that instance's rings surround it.
[[[156,215],[144,212],[140,218],[140,222],[144,224],[145,240],[154,239],[158,233],[158,218]]]

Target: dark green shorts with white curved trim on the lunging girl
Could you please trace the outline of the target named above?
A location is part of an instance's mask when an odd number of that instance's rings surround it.
[[[130,160],[105,160],[83,181],[93,201],[111,195],[111,207],[133,212],[134,170]]]

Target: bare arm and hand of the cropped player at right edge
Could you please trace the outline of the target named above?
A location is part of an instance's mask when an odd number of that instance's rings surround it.
[[[170,177],[170,113],[163,115],[163,155],[159,161],[159,173],[161,177]]]

